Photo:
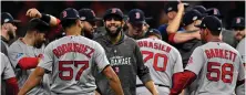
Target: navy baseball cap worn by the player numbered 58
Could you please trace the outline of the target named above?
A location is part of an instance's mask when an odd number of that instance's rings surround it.
[[[222,22],[217,17],[206,15],[199,25],[195,25],[201,29],[208,29],[211,31],[222,31]]]

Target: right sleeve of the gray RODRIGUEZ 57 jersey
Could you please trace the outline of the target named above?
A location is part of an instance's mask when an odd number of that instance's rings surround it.
[[[93,54],[93,59],[95,60],[99,72],[102,72],[106,65],[110,65],[110,62],[106,59],[104,49],[98,42],[95,42],[94,49],[95,53]]]

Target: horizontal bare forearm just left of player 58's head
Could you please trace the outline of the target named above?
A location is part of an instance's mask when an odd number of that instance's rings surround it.
[[[192,33],[177,32],[177,33],[171,33],[168,35],[168,41],[171,43],[184,43],[193,39],[198,39],[198,40],[201,39],[199,31],[192,32]]]

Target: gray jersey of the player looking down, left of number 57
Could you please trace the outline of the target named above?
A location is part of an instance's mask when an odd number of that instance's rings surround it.
[[[20,67],[18,67],[18,62],[23,57],[38,57],[40,54],[42,54],[42,50],[37,49],[34,46],[27,45],[21,41],[21,39],[18,39],[16,42],[13,42],[10,45],[8,54],[17,74],[18,85],[21,88],[24,82],[28,80],[31,72],[34,71],[34,68],[21,70]],[[43,87],[44,85],[48,85],[48,82],[40,83],[38,86],[31,89],[28,94],[30,95],[45,94],[47,92]]]

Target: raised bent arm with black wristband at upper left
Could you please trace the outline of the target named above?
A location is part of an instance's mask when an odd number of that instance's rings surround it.
[[[35,8],[29,9],[25,15],[30,18],[39,18],[45,21],[47,23],[50,23],[51,27],[57,27],[60,23],[60,20],[57,19],[55,17],[45,13],[40,13],[40,11],[37,10]]]

